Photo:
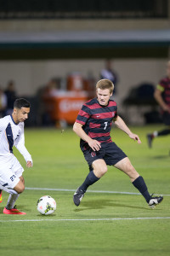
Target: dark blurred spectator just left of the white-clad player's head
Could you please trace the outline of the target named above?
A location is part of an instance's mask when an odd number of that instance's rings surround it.
[[[14,81],[11,80],[7,84],[7,89],[4,91],[5,95],[7,96],[7,109],[6,114],[13,113],[14,108],[14,101],[16,99],[16,92],[14,87]]]

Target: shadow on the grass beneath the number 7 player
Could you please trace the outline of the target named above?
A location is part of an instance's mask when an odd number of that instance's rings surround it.
[[[123,208],[131,208],[131,209],[142,209],[142,210],[150,210],[150,208],[146,207],[133,207],[132,205],[122,204],[121,202],[116,202],[112,200],[91,200],[91,201],[83,201],[81,206],[74,210],[74,212],[82,212],[87,210],[94,209],[104,209],[105,207],[123,207]]]

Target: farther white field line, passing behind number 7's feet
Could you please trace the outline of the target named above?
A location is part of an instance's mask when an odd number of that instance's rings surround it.
[[[27,190],[46,190],[46,191],[65,191],[65,192],[75,192],[76,191],[76,189],[48,189],[48,188],[26,188],[26,189]],[[140,193],[133,193],[133,192],[105,191],[105,190],[88,190],[87,192],[89,192],[89,193],[123,194],[123,195],[141,195]],[[157,195],[157,194],[155,194],[155,195]],[[165,196],[170,196],[170,195],[166,194]]]

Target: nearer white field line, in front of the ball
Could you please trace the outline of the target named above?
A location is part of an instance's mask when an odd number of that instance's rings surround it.
[[[144,219],[170,219],[170,217],[145,217],[145,218],[40,218],[40,219],[12,219],[12,220],[0,220],[2,222],[39,222],[39,221],[116,221],[116,220],[144,220]]]

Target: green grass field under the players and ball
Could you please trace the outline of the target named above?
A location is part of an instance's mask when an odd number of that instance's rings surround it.
[[[145,134],[163,126],[134,127],[142,144],[134,143],[122,131],[113,129],[112,139],[122,148],[144,177],[150,193],[165,195],[151,210],[128,177],[113,167],[95,183],[80,207],[72,201],[73,191],[88,174],[79,148],[79,138],[71,131],[26,130],[26,147],[34,160],[26,169],[27,188],[17,206],[26,216],[3,215],[8,194],[0,204],[1,255],[169,255],[170,254],[170,156],[169,138],[156,138],[152,149]],[[22,156],[14,150],[22,166]],[[42,190],[46,188],[47,190]],[[59,189],[59,190],[50,190]],[[70,191],[62,191],[68,189]],[[105,193],[117,191],[117,193]],[[37,212],[37,200],[51,195],[57,202],[53,215]]]

